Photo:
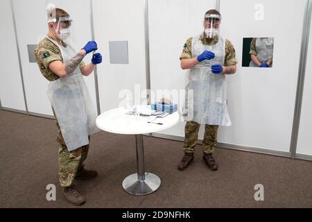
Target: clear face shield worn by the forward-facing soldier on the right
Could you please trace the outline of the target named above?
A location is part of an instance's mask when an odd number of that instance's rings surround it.
[[[220,22],[221,22],[220,15],[212,15],[212,14],[205,15],[204,26],[207,38],[212,39],[219,34]]]

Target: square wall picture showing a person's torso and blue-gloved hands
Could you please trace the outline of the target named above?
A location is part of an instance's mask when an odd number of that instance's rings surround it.
[[[243,38],[243,67],[269,68],[273,65],[273,37]]]

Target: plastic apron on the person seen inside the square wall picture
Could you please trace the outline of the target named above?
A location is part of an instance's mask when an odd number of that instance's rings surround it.
[[[257,58],[259,62],[273,60],[273,38],[272,37],[257,37],[256,40]],[[258,67],[253,61],[250,61],[250,67]],[[272,67],[272,64],[269,66]]]

